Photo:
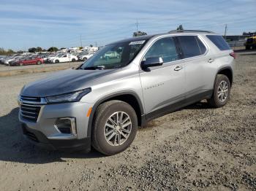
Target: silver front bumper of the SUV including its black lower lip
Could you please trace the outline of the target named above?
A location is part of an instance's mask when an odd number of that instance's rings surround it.
[[[38,106],[38,105],[37,105]],[[88,133],[89,117],[86,116],[91,104],[83,102],[40,105],[37,121],[23,117],[19,120],[23,133],[34,144],[50,149],[86,149],[91,148]],[[61,133],[56,121],[64,117],[75,118],[75,134]],[[34,139],[33,139],[34,136]]]

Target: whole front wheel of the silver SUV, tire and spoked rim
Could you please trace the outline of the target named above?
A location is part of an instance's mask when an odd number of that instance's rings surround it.
[[[116,128],[118,130],[116,131],[116,135],[113,136],[113,134],[115,134],[115,128],[113,127],[114,123],[110,121],[110,117],[112,116],[111,119],[116,122],[116,113],[121,117],[121,112],[123,113],[123,120],[127,120],[127,117],[129,117],[127,121],[124,121],[124,124],[127,125],[127,122],[131,122],[131,124],[124,127],[127,128],[126,132],[123,131],[124,128],[117,125]],[[112,126],[111,128],[106,125],[107,122]],[[127,149],[129,145],[132,144],[137,133],[137,128],[137,115],[132,106],[124,101],[113,100],[105,102],[99,105],[95,112],[94,122],[92,125],[91,144],[94,149],[97,149],[97,151],[104,155],[116,155]],[[128,135],[127,139],[125,139],[120,132],[123,133],[123,135]],[[129,134],[127,134],[127,132],[129,132]],[[107,133],[109,133],[109,135],[107,135]],[[112,139],[110,139],[111,136],[113,136]],[[118,136],[121,139],[118,139]],[[107,139],[109,139],[109,141],[107,141]],[[118,141],[120,144],[118,144]]]

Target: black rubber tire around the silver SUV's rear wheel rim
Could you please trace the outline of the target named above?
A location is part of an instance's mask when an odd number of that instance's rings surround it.
[[[223,101],[221,101],[220,98],[218,97],[218,90],[219,90],[220,83],[223,83],[223,82],[227,83],[227,97]],[[211,98],[207,100],[208,104],[212,107],[219,108],[219,107],[225,106],[229,98],[230,98],[230,80],[228,79],[227,76],[223,74],[217,74],[217,77],[214,82],[214,93],[212,94]]]

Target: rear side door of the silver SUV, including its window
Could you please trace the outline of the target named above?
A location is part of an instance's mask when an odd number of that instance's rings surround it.
[[[197,35],[176,36],[185,64],[187,98],[207,90],[206,73],[211,69],[206,58],[206,46]]]

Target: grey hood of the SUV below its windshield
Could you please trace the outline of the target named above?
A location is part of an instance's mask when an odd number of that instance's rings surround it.
[[[112,73],[114,70],[76,70],[67,69],[51,74],[49,77],[31,82],[23,88],[21,95],[46,97],[70,93],[90,87],[89,82]]]

